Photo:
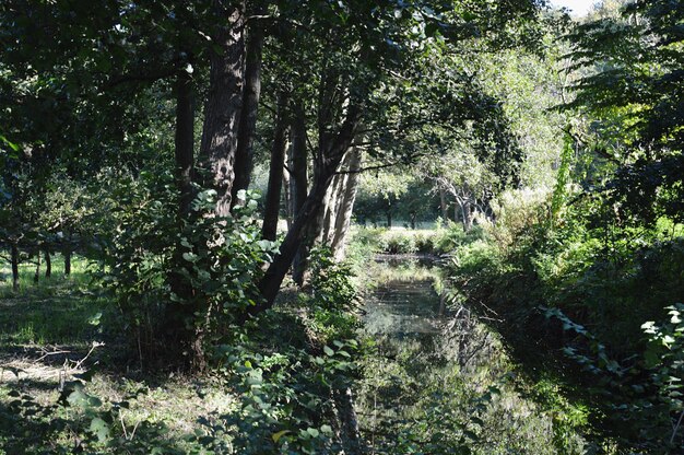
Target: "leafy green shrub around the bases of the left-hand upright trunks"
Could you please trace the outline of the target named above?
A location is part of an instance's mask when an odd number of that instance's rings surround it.
[[[215,191],[199,191],[179,230],[170,175],[142,173],[116,194],[102,279],[145,351],[177,357],[167,350],[210,345],[256,304],[260,265],[275,245],[260,238],[253,199],[235,218],[217,219]],[[202,346],[193,349],[201,355]]]

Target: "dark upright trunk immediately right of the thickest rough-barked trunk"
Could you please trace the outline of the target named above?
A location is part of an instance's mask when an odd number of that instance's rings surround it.
[[[261,55],[263,49],[263,28],[257,22],[250,22],[247,28],[247,52],[245,63],[245,90],[243,112],[238,127],[237,149],[235,152],[235,182],[232,189],[231,207],[237,200],[240,189],[249,188],[253,167],[252,141],[257,129],[257,113],[261,95]]]

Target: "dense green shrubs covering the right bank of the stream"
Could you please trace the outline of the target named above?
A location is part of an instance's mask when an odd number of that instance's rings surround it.
[[[657,390],[665,388],[645,368],[640,324],[684,292],[681,231],[670,220],[651,229],[621,224],[604,205],[577,198],[553,231],[544,217],[502,217],[488,230],[508,241],[457,249],[451,275],[464,301],[505,320],[495,325],[517,359],[547,372],[574,406],[587,407],[580,427],[597,450],[660,453],[679,413],[657,405],[665,396]],[[661,345],[676,330],[650,327]],[[676,363],[664,355],[663,362],[665,370]]]

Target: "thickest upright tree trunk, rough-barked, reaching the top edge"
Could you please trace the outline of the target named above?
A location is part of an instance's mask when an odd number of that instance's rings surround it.
[[[217,19],[226,18],[210,48],[211,72],[209,96],[204,106],[204,125],[200,144],[200,160],[205,186],[216,190],[219,217],[231,213],[231,190],[235,178],[238,124],[243,109],[245,71],[245,2],[227,10],[214,2]],[[219,47],[219,49],[216,49]]]

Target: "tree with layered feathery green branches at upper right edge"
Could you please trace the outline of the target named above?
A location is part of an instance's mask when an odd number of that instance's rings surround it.
[[[615,166],[605,185],[623,220],[682,220],[684,65],[681,1],[635,1],[570,35],[587,72],[569,107],[597,121],[589,148]]]

